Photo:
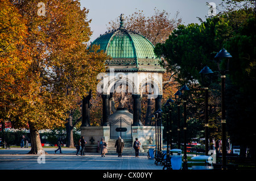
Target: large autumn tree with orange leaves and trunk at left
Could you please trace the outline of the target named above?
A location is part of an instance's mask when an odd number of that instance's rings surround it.
[[[1,0],[1,118],[30,129],[32,154],[38,131],[64,127],[105,71],[106,54],[87,49],[88,12],[75,0]]]

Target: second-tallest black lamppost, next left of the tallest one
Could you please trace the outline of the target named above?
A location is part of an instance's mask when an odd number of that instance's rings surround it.
[[[201,74],[201,84],[204,86],[204,92],[205,92],[205,99],[204,99],[204,106],[205,106],[205,112],[204,112],[204,119],[205,119],[205,124],[204,124],[204,129],[205,129],[205,155],[208,155],[209,152],[209,133],[208,133],[208,128],[209,128],[209,123],[208,123],[208,97],[209,97],[209,92],[208,92],[208,87],[210,85],[210,82],[212,81],[212,74],[213,71],[210,70],[208,66],[205,66],[200,72]]]

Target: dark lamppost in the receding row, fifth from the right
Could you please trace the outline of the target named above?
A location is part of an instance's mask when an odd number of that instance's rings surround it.
[[[172,149],[172,118],[171,118],[171,112],[172,112],[172,106],[173,106],[174,100],[171,98],[167,100],[166,104],[164,104],[164,108],[166,110],[166,123],[167,123],[167,155],[166,159],[170,159],[170,153],[169,153],[169,145],[170,149]],[[167,110],[168,107],[168,110]],[[170,128],[169,128],[169,123],[170,123]],[[170,138],[169,138],[170,136]]]

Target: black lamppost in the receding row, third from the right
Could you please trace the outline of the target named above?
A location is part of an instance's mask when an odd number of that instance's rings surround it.
[[[184,106],[184,155],[183,155],[183,170],[188,170],[188,159],[187,159],[187,100],[189,88],[184,85],[180,89],[181,99],[183,99]]]

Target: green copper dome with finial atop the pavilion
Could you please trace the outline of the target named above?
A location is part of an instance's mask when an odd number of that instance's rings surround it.
[[[117,30],[101,35],[93,44],[100,45],[112,60],[106,60],[108,68],[118,71],[158,71],[164,69],[154,54],[154,45],[146,37],[123,28],[123,17]]]

